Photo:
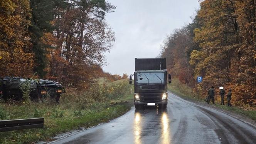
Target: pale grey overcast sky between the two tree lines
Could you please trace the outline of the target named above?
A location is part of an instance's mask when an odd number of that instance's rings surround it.
[[[108,0],[116,6],[106,15],[115,32],[113,48],[106,53],[105,72],[133,74],[134,58],[155,58],[167,34],[192,22],[198,0]]]

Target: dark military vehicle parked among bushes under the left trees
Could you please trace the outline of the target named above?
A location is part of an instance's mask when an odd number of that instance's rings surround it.
[[[24,79],[22,77],[4,77],[0,79],[0,95],[4,100],[7,99],[22,99],[20,86],[23,82],[30,83],[30,98],[37,100],[45,96],[50,96],[59,102],[60,95],[64,92],[63,87],[59,82],[43,79]]]

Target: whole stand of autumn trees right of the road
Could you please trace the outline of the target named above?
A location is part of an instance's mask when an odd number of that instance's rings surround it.
[[[167,67],[183,83],[189,74],[203,97],[212,85],[233,91],[236,105],[256,105],[255,0],[204,0],[192,23],[175,30],[163,46]],[[187,63],[189,61],[189,64]],[[192,85],[190,85],[193,87]]]

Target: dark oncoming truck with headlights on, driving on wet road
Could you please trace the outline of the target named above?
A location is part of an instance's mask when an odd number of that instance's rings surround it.
[[[171,83],[172,80],[166,70],[166,58],[135,58],[135,72],[130,75],[130,84],[132,84],[132,76],[134,76],[136,109],[141,109],[144,105],[158,105],[159,108],[167,108],[167,83]]]

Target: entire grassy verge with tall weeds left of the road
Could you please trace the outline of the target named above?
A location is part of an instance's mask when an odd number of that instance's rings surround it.
[[[44,117],[44,129],[25,129],[1,132],[0,143],[33,143],[51,141],[51,137],[78,129],[96,126],[101,122],[121,116],[131,108],[132,85],[128,80],[95,85],[86,92],[67,90],[61,96],[60,104],[51,100],[43,103],[12,104],[0,103],[0,120]]]

